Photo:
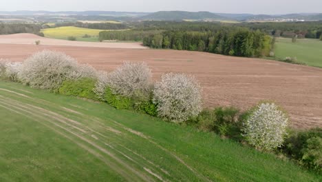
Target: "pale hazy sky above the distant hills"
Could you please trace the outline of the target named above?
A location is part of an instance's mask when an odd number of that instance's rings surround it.
[[[322,0],[0,0],[0,10],[209,11],[254,14],[322,12]]]

